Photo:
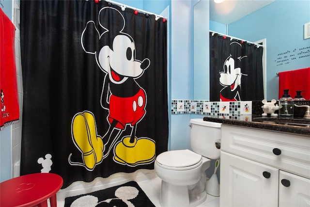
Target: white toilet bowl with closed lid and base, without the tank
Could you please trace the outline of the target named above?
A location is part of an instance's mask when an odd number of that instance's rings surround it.
[[[210,159],[188,149],[161,153],[154,165],[156,174],[162,179],[160,205],[187,207],[202,204],[207,196],[204,181],[209,166]],[[199,182],[202,182],[201,190],[195,193]]]

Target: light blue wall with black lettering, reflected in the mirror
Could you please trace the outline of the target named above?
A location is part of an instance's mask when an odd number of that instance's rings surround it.
[[[276,0],[228,25],[228,35],[251,42],[266,38],[268,100],[279,98],[279,77],[276,73],[310,67],[310,56],[298,58],[300,51],[310,54],[310,38],[304,39],[304,24],[309,22],[310,0]],[[287,51],[287,58],[280,55]],[[290,57],[292,54],[295,56]],[[294,57],[296,59],[292,60]],[[281,64],[278,58],[288,61]],[[295,92],[290,94],[295,96]]]

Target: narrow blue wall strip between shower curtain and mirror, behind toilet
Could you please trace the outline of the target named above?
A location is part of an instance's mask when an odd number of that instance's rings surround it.
[[[171,99],[190,100],[192,96],[190,14],[191,1],[171,1]],[[169,149],[189,147],[189,119],[189,114],[171,115]]]

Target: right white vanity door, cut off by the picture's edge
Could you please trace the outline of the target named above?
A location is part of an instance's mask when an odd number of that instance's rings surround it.
[[[310,207],[310,179],[279,172],[279,207]]]

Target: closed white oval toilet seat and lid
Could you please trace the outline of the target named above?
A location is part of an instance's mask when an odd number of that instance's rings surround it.
[[[190,170],[202,164],[202,156],[188,149],[171,150],[158,155],[156,163],[169,170]]]

